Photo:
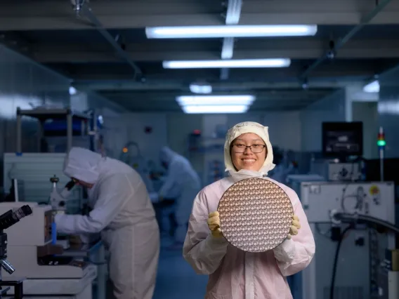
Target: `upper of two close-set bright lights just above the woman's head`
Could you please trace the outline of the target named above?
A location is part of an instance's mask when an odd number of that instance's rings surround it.
[[[254,100],[254,95],[182,95],[176,98],[181,106],[251,105]]]

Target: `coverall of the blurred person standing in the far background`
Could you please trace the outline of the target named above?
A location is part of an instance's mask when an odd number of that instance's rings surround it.
[[[187,232],[187,222],[190,218],[192,199],[201,190],[201,181],[197,172],[192,168],[188,159],[163,147],[161,161],[168,165],[168,173],[164,185],[159,190],[163,198],[176,198],[175,217],[177,228],[175,241],[183,243]]]

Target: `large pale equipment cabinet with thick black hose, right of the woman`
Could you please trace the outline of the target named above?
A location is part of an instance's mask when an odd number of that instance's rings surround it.
[[[354,219],[372,217],[395,223],[394,185],[392,182],[301,182],[299,197],[315,237],[316,253],[310,265],[301,272],[301,292],[295,299],[329,298],[331,285],[339,299],[379,298],[381,260],[384,249],[395,247],[391,235],[377,234],[367,225],[357,223],[351,230],[339,221],[336,213],[355,215]],[[353,230],[352,230],[353,229]],[[340,256],[336,275],[339,243]],[[335,264],[335,265],[334,265]],[[331,271],[329,271],[331,270]],[[335,277],[335,280],[333,279]],[[332,283],[334,280],[334,283]],[[391,298],[389,298],[391,299]]]

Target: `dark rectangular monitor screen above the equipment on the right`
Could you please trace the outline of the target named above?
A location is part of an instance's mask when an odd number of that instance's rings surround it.
[[[355,122],[322,123],[322,153],[325,157],[362,156],[363,124]]]

